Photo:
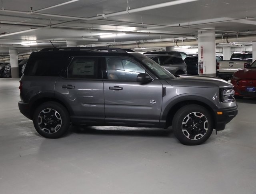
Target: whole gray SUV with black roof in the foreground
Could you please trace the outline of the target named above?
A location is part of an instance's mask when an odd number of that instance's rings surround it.
[[[72,125],[168,128],[182,144],[205,142],[238,110],[232,84],[178,78],[143,54],[120,48],[33,52],[20,79],[20,112],[46,138]]]

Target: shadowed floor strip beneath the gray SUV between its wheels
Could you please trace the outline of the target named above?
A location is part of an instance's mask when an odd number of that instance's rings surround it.
[[[68,135],[76,134],[101,134],[116,136],[161,136],[169,137],[172,129],[162,128],[135,128],[120,126],[71,126]]]

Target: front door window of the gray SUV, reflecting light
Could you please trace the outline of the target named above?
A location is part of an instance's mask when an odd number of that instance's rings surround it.
[[[140,73],[145,70],[130,60],[107,58],[107,72],[110,80],[124,80],[136,82]]]

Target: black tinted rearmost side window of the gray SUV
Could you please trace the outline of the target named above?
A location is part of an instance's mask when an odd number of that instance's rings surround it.
[[[59,76],[66,58],[31,58],[26,68],[28,76]]]

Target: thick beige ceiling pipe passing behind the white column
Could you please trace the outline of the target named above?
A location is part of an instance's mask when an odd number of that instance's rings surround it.
[[[240,36],[224,36],[217,37],[215,39],[216,44],[230,43],[230,42],[254,42],[256,41],[256,35],[240,35]],[[173,40],[173,41],[162,41],[162,42],[140,42],[134,44],[116,44],[111,47],[118,48],[143,48],[143,47],[162,47],[162,46],[186,46],[186,45],[197,45],[197,40]]]

